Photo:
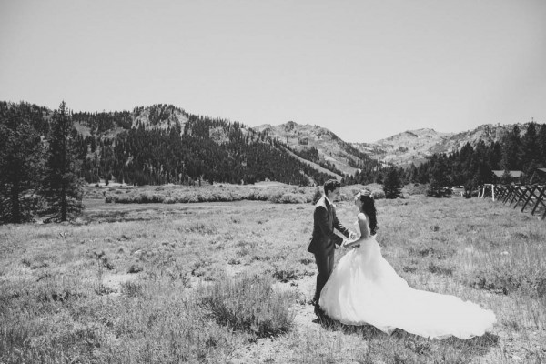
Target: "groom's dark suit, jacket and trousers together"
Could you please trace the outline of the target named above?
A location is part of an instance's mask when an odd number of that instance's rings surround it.
[[[315,290],[315,304],[319,304],[320,291],[328,281],[334,269],[335,245],[341,245],[343,238],[334,233],[334,228],[349,238],[349,229],[339,223],[336,209],[326,197],[319,199],[315,205],[313,214],[313,236],[309,243],[308,251],[315,255],[319,275],[317,276],[317,288]]]

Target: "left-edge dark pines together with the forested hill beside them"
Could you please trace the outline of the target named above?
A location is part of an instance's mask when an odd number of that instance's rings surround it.
[[[267,179],[308,186],[332,177],[290,155],[276,138],[167,105],[73,113],[64,102],[53,112],[0,102],[0,140],[0,222],[36,213],[65,221],[83,208],[84,184],[101,179],[137,186]]]

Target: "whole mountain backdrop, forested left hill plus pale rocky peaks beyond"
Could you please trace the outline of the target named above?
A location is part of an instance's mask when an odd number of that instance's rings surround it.
[[[7,103],[4,103],[7,106]],[[3,105],[4,105],[3,104]],[[46,135],[53,111],[42,110],[36,130]],[[72,114],[83,156],[83,176],[136,184],[252,183],[266,179],[316,184],[325,178],[366,176],[373,181],[387,164],[420,166],[435,153],[470,143],[500,141],[513,125],[482,125],[460,133],[408,130],[375,143],[347,143],[321,126],[293,121],[250,127],[197,116],[172,105],[131,111]],[[521,135],[528,124],[518,124]]]

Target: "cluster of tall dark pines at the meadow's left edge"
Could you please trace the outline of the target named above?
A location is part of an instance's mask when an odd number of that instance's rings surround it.
[[[58,110],[0,103],[0,222],[20,223],[35,212],[66,221],[82,210],[77,135],[62,102]]]

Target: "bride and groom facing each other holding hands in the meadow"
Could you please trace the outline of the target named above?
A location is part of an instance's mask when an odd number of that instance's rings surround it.
[[[354,197],[359,236],[339,223],[333,202],[339,198],[340,187],[335,179],[326,181],[324,196],[313,214],[308,251],[314,254],[319,270],[312,300],[319,319],[373,325],[389,334],[403,329],[429,339],[470,339],[492,329],[496,318],[490,309],[455,296],[410,288],[399,277],[381,255],[376,208],[368,190]],[[334,269],[336,246],[351,249]]]

